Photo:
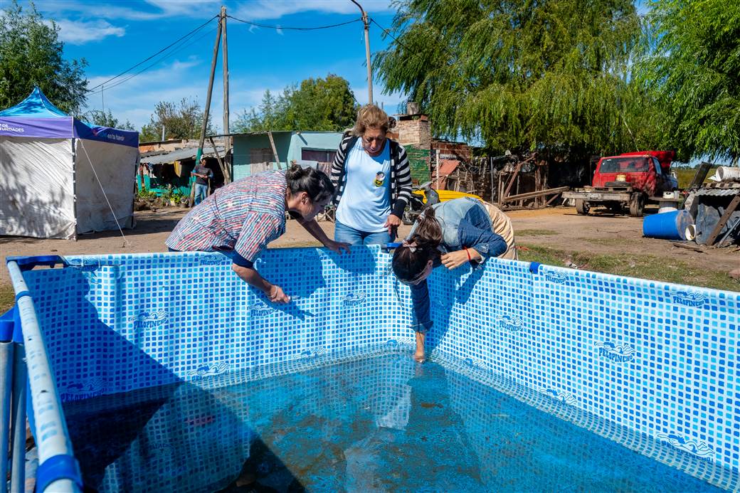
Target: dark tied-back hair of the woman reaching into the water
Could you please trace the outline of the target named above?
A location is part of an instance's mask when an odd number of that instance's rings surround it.
[[[426,268],[428,261],[440,256],[437,247],[442,242],[442,227],[434,215],[434,209],[427,207],[417,223],[414,235],[408,239],[408,243],[416,246],[402,245],[393,252],[393,272],[403,282],[414,281]]]

